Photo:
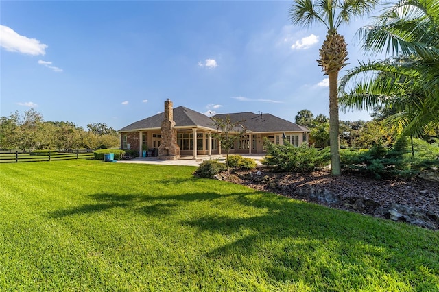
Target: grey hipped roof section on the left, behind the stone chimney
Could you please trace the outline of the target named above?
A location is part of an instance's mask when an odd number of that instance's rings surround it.
[[[190,108],[185,108],[184,106],[174,108],[173,116],[174,121],[176,122],[175,127],[198,126],[215,129],[211,118],[207,117],[205,114],[200,114],[200,112],[195,112],[195,110],[191,110]],[[152,117],[127,125],[126,127],[121,128],[118,132],[130,132],[154,128],[160,129],[163,119],[165,119],[165,114],[161,112],[160,114],[155,114]]]

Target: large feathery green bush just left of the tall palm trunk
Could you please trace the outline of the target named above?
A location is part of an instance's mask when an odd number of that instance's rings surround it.
[[[296,147],[290,143],[276,145],[265,141],[267,155],[263,164],[274,171],[311,172],[329,164],[329,148],[317,149],[303,143]]]

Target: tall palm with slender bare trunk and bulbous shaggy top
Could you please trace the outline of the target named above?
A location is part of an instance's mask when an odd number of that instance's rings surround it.
[[[314,23],[327,27],[327,36],[319,51],[318,64],[329,77],[329,140],[331,147],[331,174],[340,175],[340,141],[337,99],[339,71],[346,66],[348,51],[344,37],[337,29],[357,16],[371,12],[378,0],[296,0],[289,9],[293,24],[311,27]]]

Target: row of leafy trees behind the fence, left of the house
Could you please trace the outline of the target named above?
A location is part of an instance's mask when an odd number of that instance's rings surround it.
[[[89,123],[87,130],[70,121],[45,121],[31,108],[0,117],[0,149],[34,151],[119,147],[119,134],[105,123]]]

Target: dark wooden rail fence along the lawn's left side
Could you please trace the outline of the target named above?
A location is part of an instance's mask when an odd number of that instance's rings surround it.
[[[70,160],[94,158],[93,151],[90,150],[75,150],[71,152],[48,151],[40,153],[23,153],[15,152],[1,152],[0,163],[7,162],[38,162],[38,161],[54,161],[54,160]]]

